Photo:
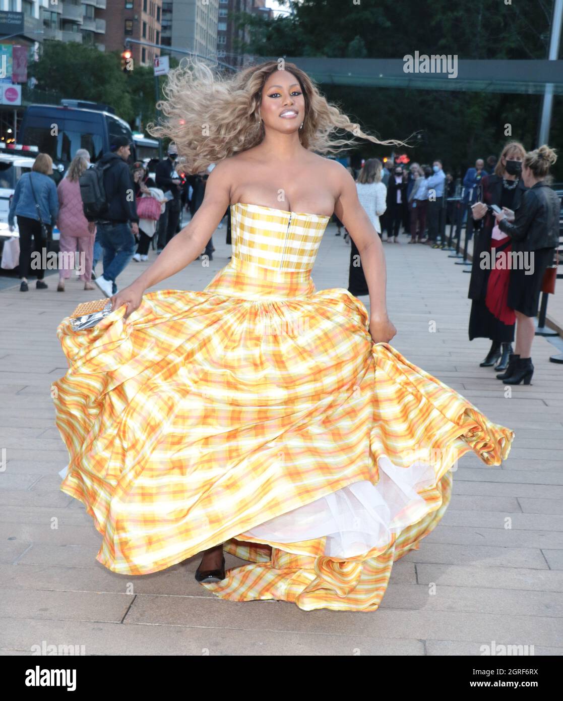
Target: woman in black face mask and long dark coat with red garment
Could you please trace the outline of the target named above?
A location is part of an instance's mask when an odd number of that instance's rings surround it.
[[[507,212],[520,207],[527,190],[520,177],[522,159],[526,149],[518,142],[509,142],[503,148],[493,175],[482,177],[478,188],[478,201],[471,207],[475,242],[473,244],[473,266],[469,280],[468,297],[472,299],[469,316],[469,340],[491,339],[491,348],[480,367],[495,365],[497,372],[508,367],[513,352],[514,312],[508,308],[508,270],[490,270],[482,266],[483,253],[506,255],[510,252],[510,238],[495,226],[494,215],[489,210],[497,205]],[[498,364],[497,364],[498,362]]]

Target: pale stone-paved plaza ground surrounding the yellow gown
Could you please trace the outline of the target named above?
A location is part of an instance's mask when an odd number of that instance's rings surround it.
[[[225,220],[226,221],[226,220]],[[317,289],[347,287],[349,245],[329,224],[314,266]],[[228,263],[226,226],[209,266],[193,261],[154,289],[202,290]],[[391,345],[512,428],[508,460],[460,459],[438,527],[393,568],[378,611],[302,611],[282,601],[230,602],[197,584],[200,556],[143,577],[120,576],[95,556],[101,543],[81,503],[60,491],[67,450],[50,384],[66,372],[57,324],[98,299],[73,276],[67,292],[0,292],[0,654],[76,644],[87,655],[480,655],[483,645],[563,654],[563,365],[534,341],[531,386],[510,396],[480,368],[487,339],[468,341],[469,275],[447,252],[385,243]],[[118,283],[148,263],[132,261]],[[559,290],[554,311],[561,308]],[[361,297],[368,305],[368,297]],[[551,304],[551,302],[550,302]],[[562,315],[563,317],[563,315]],[[57,528],[53,528],[57,519]],[[230,554],[226,566],[243,564]]]

